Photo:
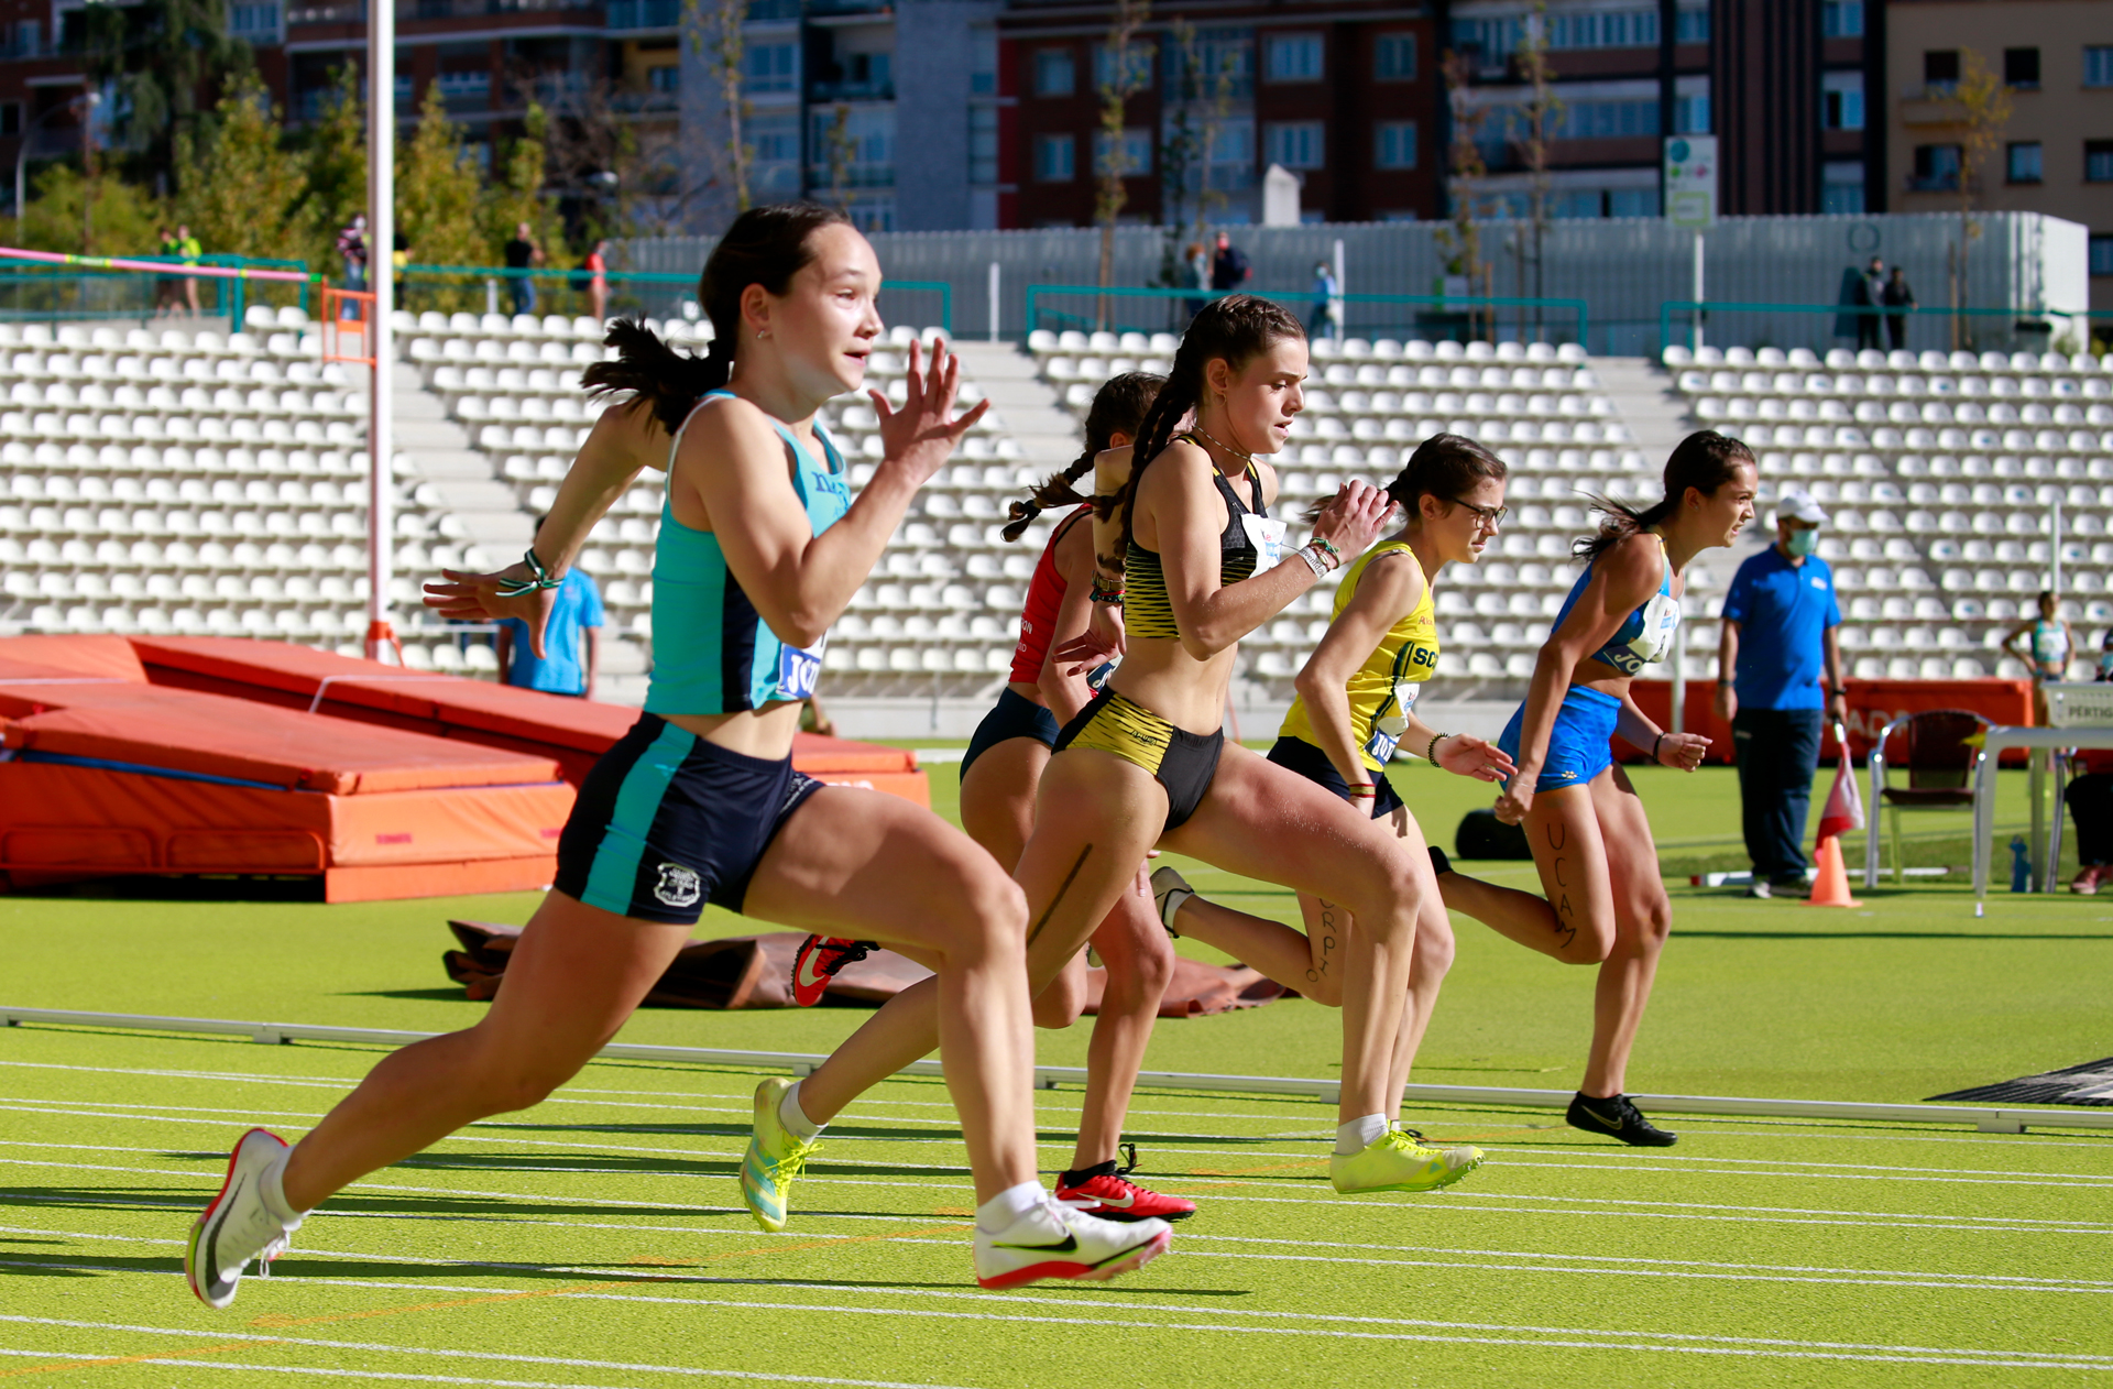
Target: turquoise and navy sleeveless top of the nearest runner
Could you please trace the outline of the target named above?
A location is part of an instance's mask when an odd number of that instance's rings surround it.
[[[697,408],[714,397],[733,400],[733,393],[710,391]],[[689,419],[695,416],[697,410],[691,410]],[[689,429],[689,419],[682,421],[682,429]],[[792,490],[807,507],[807,524],[820,535],[852,510],[852,493],[843,482],[843,455],[818,425],[816,436],[828,459],[828,467],[822,467],[790,429],[780,421],[771,425],[792,450]],[[682,429],[674,431],[674,444],[668,448],[670,482]],[[674,497],[674,486],[668,495]],[[718,535],[685,526],[674,518],[672,503],[661,503],[661,531],[653,554],[649,715],[731,715],[784,700],[805,700],[822,672],[826,645],[826,636],[811,649],[778,641],[756,613],[756,605],[742,592],[740,579],[727,569]]]

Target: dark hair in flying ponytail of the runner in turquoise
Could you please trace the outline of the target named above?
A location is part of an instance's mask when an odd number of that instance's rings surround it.
[[[579,374],[587,395],[632,391],[651,402],[653,419],[674,433],[697,400],[727,385],[733,374],[733,345],[740,340],[742,294],[748,285],[784,294],[792,277],[814,260],[807,245],[814,233],[849,224],[843,211],[820,203],[750,207],[712,247],[697,279],[697,302],[712,321],[712,347],[706,355],[678,353],[638,319],[617,319],[606,338],[617,349],[617,359],[596,362]]]

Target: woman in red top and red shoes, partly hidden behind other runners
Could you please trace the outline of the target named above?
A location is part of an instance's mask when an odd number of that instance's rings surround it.
[[[1042,767],[1059,729],[1069,723],[1095,689],[1107,679],[1107,668],[1092,674],[1065,674],[1063,662],[1048,653],[1086,630],[1092,590],[1092,503],[1073,490],[1073,482],[1092,469],[1097,455],[1122,448],[1152,408],[1164,376],[1128,372],[1116,376],[1092,400],[1086,414],[1086,450],[1071,467],[1035,488],[1031,501],[1012,503],[1006,539],[1018,539],[1044,510],[1071,505],[1056,522],[1035,575],[1027,584],[1021,611],[1021,645],[1012,653],[1012,679],[999,691],[997,704],[985,715],[961,755],[961,829],[1010,869],[1021,858],[1035,827],[1035,793]],[[852,960],[866,953],[864,941],[809,937],[792,968],[794,1002],[820,1002],[828,979]],[[1092,1021],[1092,1042],[1086,1053],[1086,1097],[1078,1121],[1078,1146],[1071,1167],[1056,1180],[1056,1199],[1082,1205],[1084,1211],[1109,1220],[1181,1220],[1196,1205],[1179,1197],[1162,1197],[1126,1180],[1116,1154],[1122,1146],[1122,1121],[1130,1108],[1130,1089],[1145,1061],[1152,1023],[1158,1019],[1160,996],[1173,977],[1175,951],[1160,928],[1152,905],[1152,888],[1139,875],[1137,890],[1126,894],[1101,928],[1092,947],[1107,964],[1101,1008]],[[900,947],[894,947],[900,949]],[[1069,1027],[1086,1008],[1086,958],[1073,956],[1050,987],[1035,998],[1037,1027]],[[860,1034],[852,1034],[839,1051],[856,1051]],[[816,1114],[801,1101],[801,1091],[788,1097],[801,1104],[811,1125],[828,1123],[835,1112]],[[1130,1152],[1135,1165],[1135,1150]]]

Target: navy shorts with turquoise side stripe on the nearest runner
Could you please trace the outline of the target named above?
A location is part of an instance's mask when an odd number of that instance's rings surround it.
[[[778,829],[822,782],[638,715],[602,753],[558,837],[558,892],[602,911],[691,926],[740,911]]]

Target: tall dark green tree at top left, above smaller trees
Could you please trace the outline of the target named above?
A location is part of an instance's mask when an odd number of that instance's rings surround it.
[[[197,123],[199,93],[226,91],[256,68],[228,36],[226,0],[144,0],[82,8],[82,66],[112,93],[116,142],[144,156],[156,184],[175,167],[175,135]]]

